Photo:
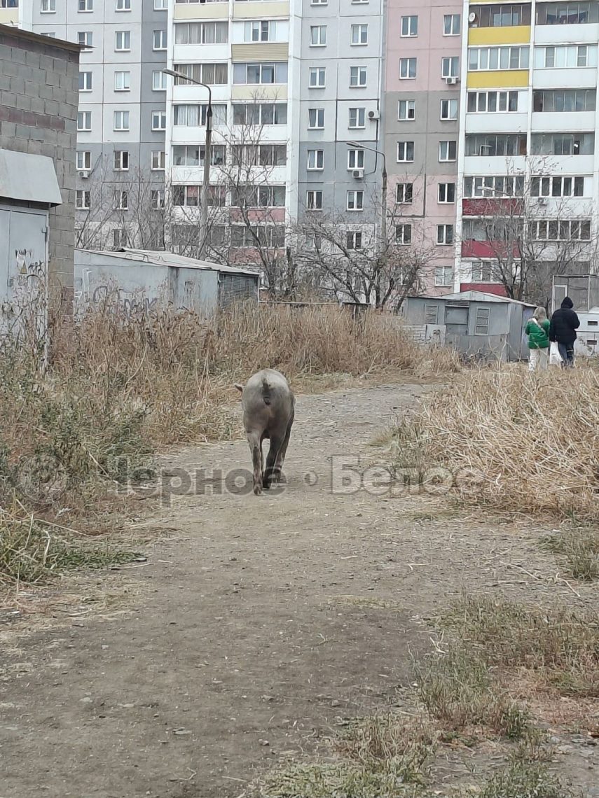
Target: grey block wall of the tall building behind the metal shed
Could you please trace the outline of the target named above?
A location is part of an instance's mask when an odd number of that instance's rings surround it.
[[[50,210],[50,275],[73,287],[79,49],[0,26],[0,148],[50,156],[62,204]]]

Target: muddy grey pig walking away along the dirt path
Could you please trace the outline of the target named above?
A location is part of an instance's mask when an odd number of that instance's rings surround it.
[[[236,382],[235,387],[241,392],[244,429],[252,452],[254,493],[260,496],[263,488],[268,489],[280,480],[295,417],[296,397],[283,374],[275,369],[262,369],[245,385]],[[262,455],[264,438],[270,440],[266,468]]]

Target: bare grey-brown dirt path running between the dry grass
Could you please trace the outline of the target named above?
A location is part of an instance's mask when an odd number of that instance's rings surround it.
[[[279,495],[219,492],[207,473],[170,506],[140,501],[136,533],[163,534],[102,588],[127,580],[129,611],[2,638],[0,798],[237,798],[344,717],[403,700],[412,656],[432,650],[426,619],[462,591],[596,602],[596,587],[552,581],[530,524],[426,495],[331,492],[331,456],[374,458],[373,437],[432,389],[299,397]],[[165,469],[249,464],[239,441]],[[570,753],[599,795],[597,748]]]

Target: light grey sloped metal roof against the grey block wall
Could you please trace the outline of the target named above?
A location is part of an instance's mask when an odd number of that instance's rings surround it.
[[[61,205],[54,161],[45,155],[0,149],[0,196],[42,205]]]

